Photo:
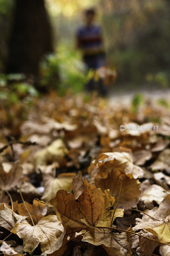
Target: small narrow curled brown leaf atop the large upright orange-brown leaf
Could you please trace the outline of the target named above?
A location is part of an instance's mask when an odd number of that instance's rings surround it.
[[[82,194],[82,192],[84,190],[82,173],[80,171],[78,172],[78,175],[73,178],[71,183],[72,183],[72,187],[73,187],[74,197],[75,197],[75,199],[78,199],[78,197]]]

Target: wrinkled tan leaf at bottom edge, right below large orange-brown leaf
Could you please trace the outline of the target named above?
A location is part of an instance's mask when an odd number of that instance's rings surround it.
[[[119,234],[107,228],[90,228],[90,231],[85,233],[82,241],[94,245],[103,244],[107,247],[113,247],[117,252],[115,255],[126,255],[127,252],[126,232]]]

